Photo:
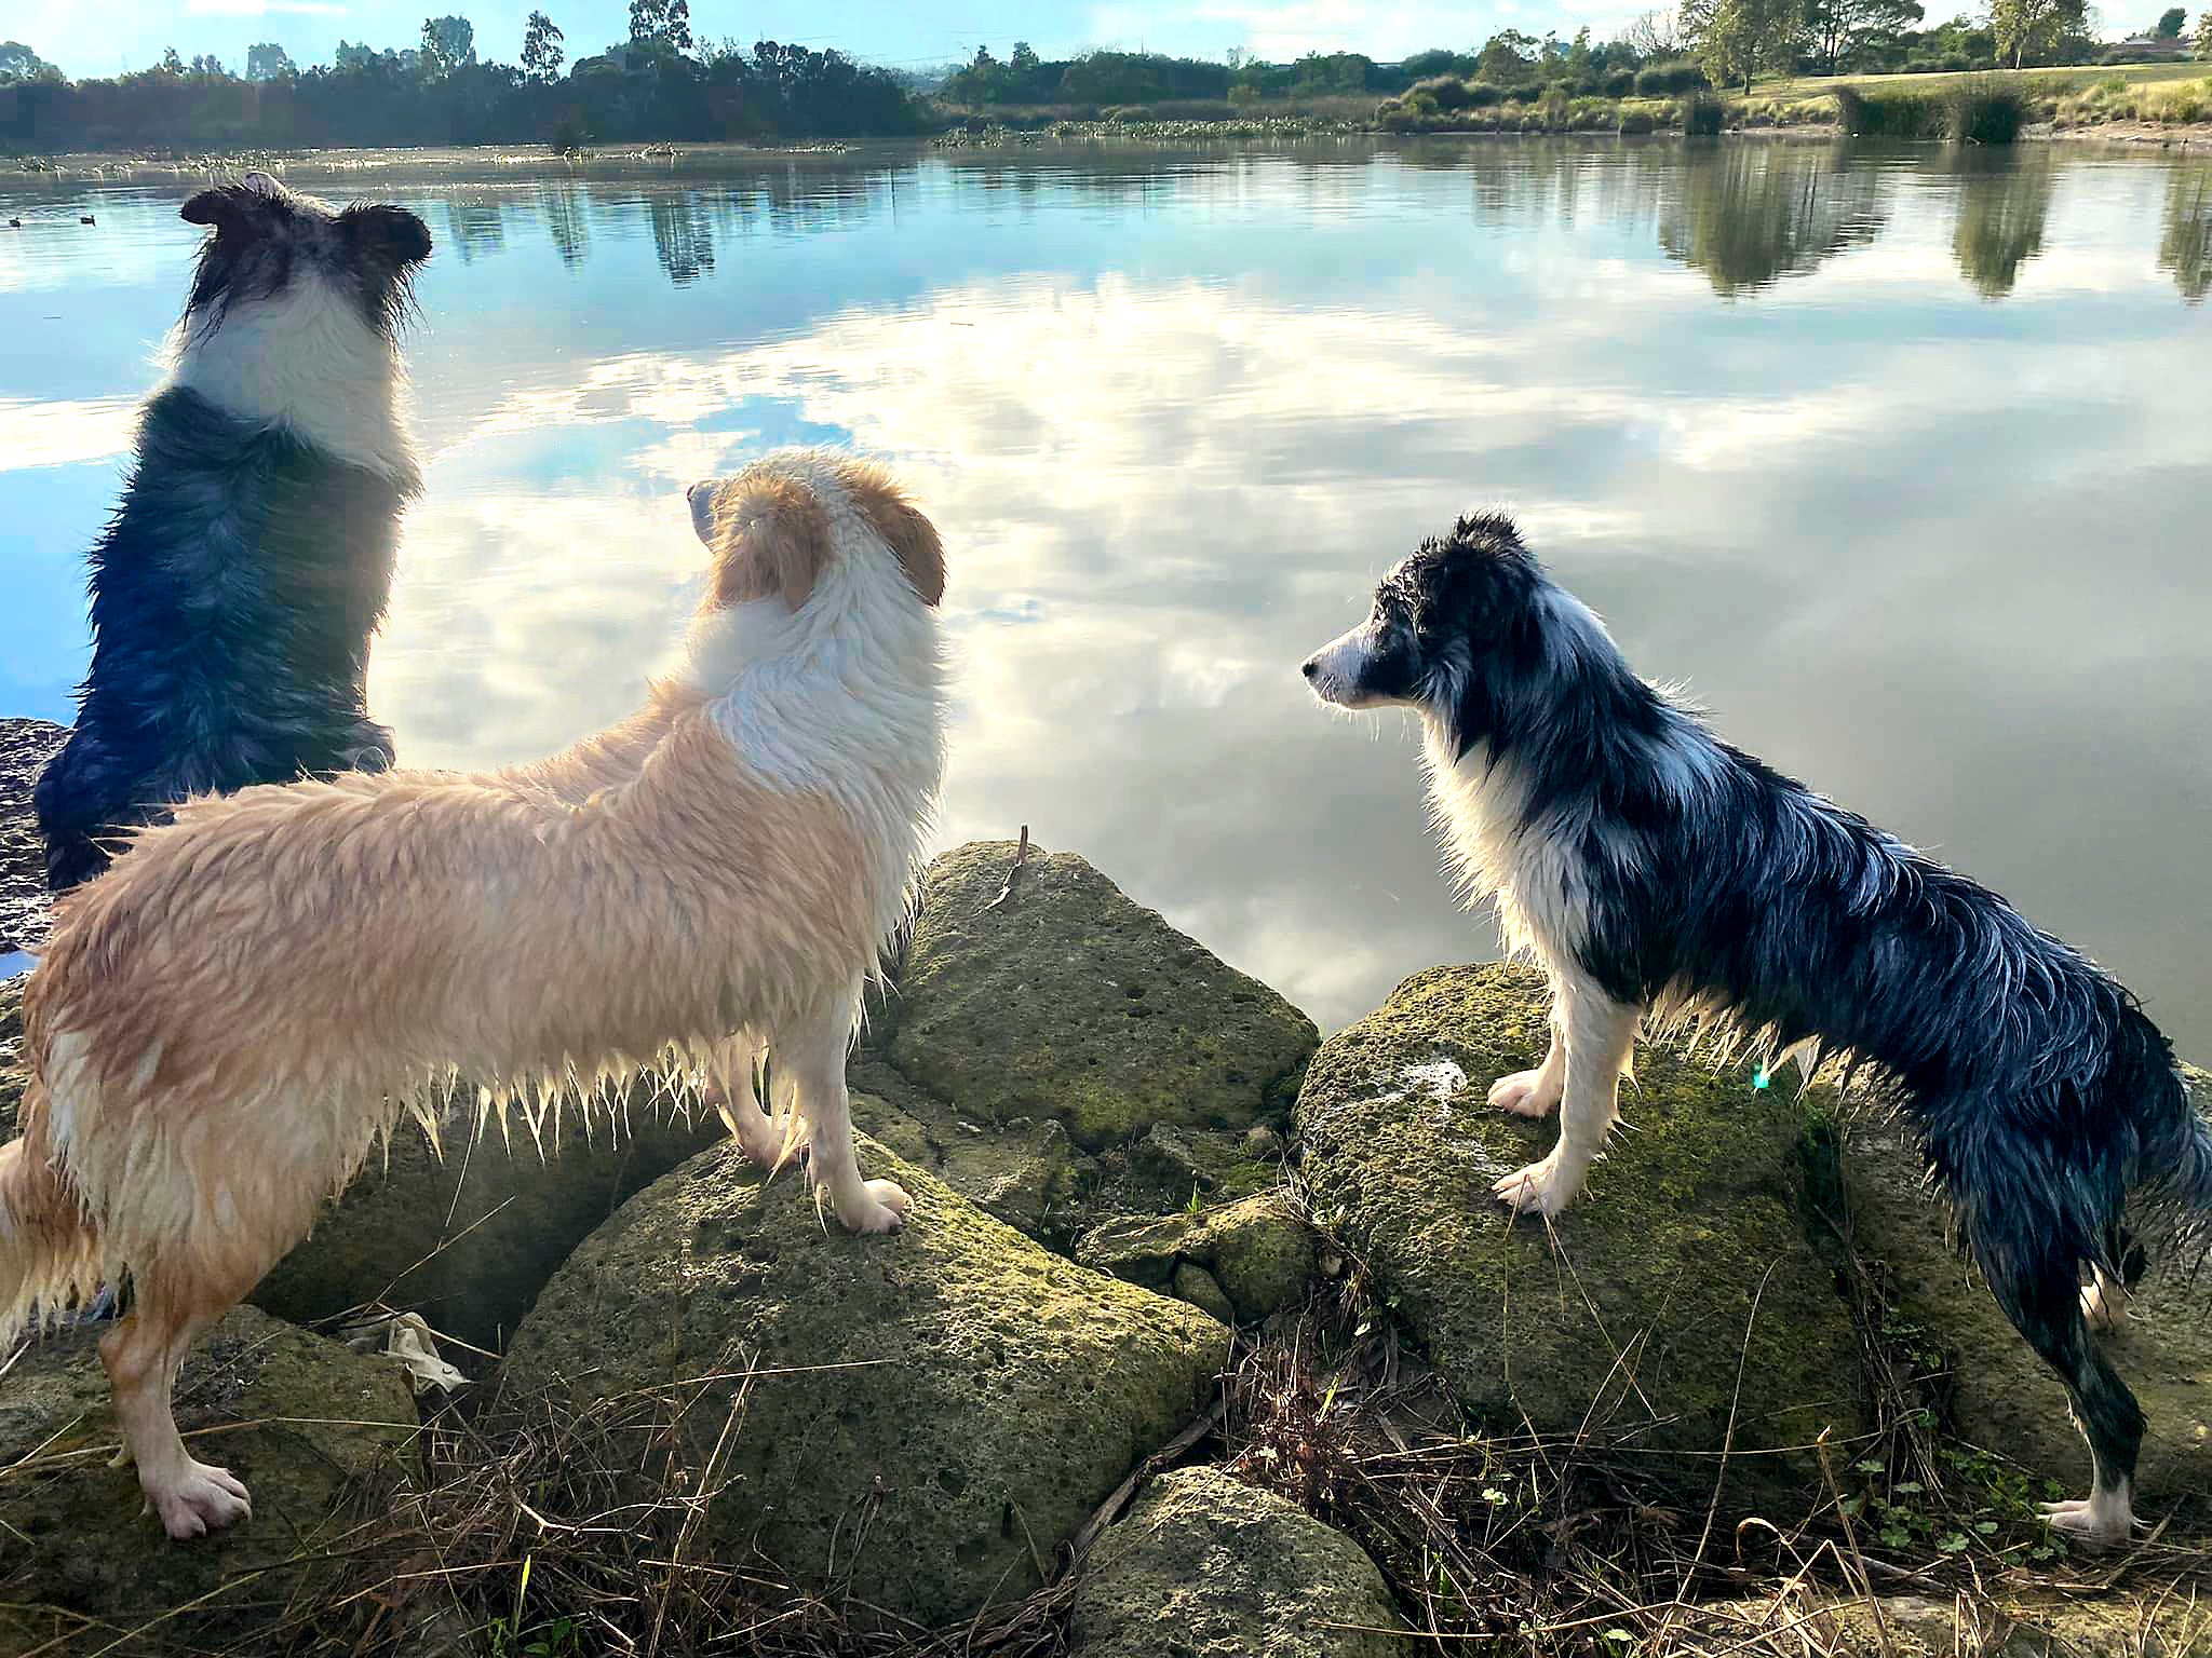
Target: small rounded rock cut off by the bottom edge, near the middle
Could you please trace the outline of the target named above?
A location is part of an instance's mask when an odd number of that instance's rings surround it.
[[[1137,1497],[1075,1585],[1073,1658],[1398,1658],[1411,1634],[1358,1543],[1219,1468]]]

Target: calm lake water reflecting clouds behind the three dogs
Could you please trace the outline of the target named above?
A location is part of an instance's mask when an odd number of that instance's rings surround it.
[[[945,840],[1031,825],[1345,1024],[1493,953],[1400,716],[1296,665],[1471,504],[1736,743],[1980,875],[2212,1059],[2212,161],[1323,144],[422,168],[407,763],[639,696],[681,489],[887,458],[945,533]],[[197,232],[0,183],[0,714],[66,718],[82,550]],[[97,225],[80,225],[93,212]]]

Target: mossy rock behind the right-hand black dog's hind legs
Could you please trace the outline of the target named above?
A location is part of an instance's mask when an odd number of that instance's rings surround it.
[[[2192,1085],[2212,1099],[2203,1072]],[[2088,1490],[2088,1446],[2066,1388],[2020,1340],[1951,1240],[1951,1209],[1922,1183],[1920,1150],[1900,1123],[1854,1121],[1843,1141],[1851,1238],[1889,1302],[1893,1346],[1942,1379],[1947,1428],[2057,1481]],[[2137,1510],[2212,1512],[2212,1276],[2152,1273],[2119,1331],[2099,1337],[2150,1417],[2137,1463]]]

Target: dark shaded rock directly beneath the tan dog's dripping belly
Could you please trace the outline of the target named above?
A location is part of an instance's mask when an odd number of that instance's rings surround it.
[[[622,1132],[599,1121],[588,1136],[571,1114],[560,1147],[544,1152],[520,1112],[513,1138],[493,1125],[473,1145],[469,1116],[447,1130],[442,1158],[403,1119],[389,1156],[372,1161],[276,1262],[250,1295],[254,1307],[316,1324],[383,1300],[498,1351],[571,1249],[635,1192],[728,1138],[697,1099],[688,1116],[639,1099]],[[471,1368],[467,1353],[449,1357]]]

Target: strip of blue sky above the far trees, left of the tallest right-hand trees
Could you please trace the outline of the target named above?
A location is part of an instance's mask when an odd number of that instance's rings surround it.
[[[571,57],[593,53],[628,33],[628,0],[540,0],[562,27]],[[407,46],[422,31],[422,15],[449,0],[416,0],[407,7],[367,0],[13,0],[0,35],[22,40],[69,75],[113,75],[146,69],[175,46],[186,57],[212,51],[230,69],[243,69],[246,49],[274,40],[294,62],[330,62],[338,40],[372,46]],[[513,62],[522,44],[529,0],[465,0],[458,7],[476,24],[478,55]],[[894,0],[849,0],[805,4],[805,0],[692,0],[692,29],[703,40],[737,35],[799,40],[836,46],[856,57],[887,64],[938,64],[967,57],[978,44],[1004,55],[1018,38],[1046,57],[1084,46],[1150,46],[1155,51],[1219,57],[1245,46],[1261,57],[1296,57],[1303,51],[1352,49],[1374,57],[1402,57],[1422,46],[1467,46],[1493,29],[1513,24],[1531,33],[1573,33],[1590,22],[1599,38],[1639,11],[1632,0],[1586,13],[1562,11],[1542,0],[1498,0],[1484,7],[1413,0],[1197,0],[1197,4],[1152,4],[1148,0],[947,0],[945,4],[896,4]]]

